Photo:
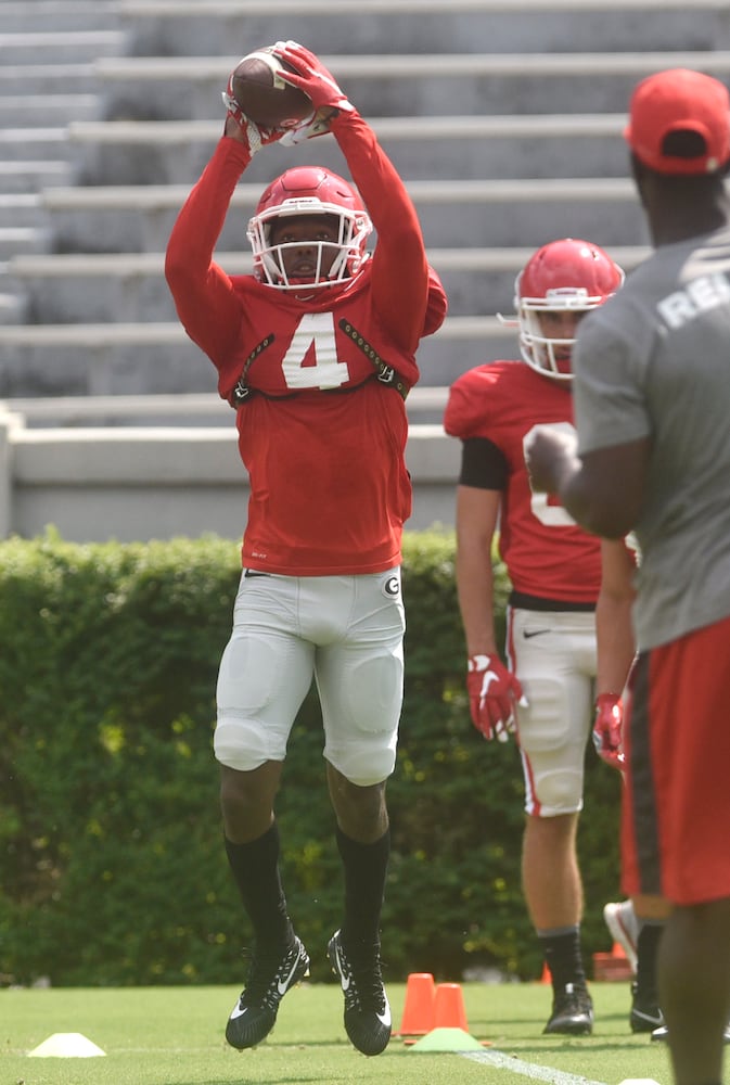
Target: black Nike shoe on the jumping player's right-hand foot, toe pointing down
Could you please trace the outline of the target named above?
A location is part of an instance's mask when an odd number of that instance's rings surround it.
[[[367,961],[350,961],[340,931],[335,931],[326,955],[345,995],[345,1032],[358,1051],[380,1055],[390,1038],[390,1007],[383,986],[379,948],[373,948]]]

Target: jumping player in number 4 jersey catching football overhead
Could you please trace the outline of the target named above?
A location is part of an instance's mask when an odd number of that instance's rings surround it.
[[[354,183],[318,167],[277,177],[249,224],[253,276],[227,275],[213,254],[231,196],[252,156],[284,137],[244,116],[229,82],[225,135],[166,260],[180,320],[235,408],[251,485],[215,731],[226,853],[254,933],[226,1036],[236,1048],[259,1044],[309,968],[281,883],[274,799],[313,678],[344,868],[343,923],[326,953],[346,1032],[377,1055],[390,1036],[380,918],[404,677],[404,400],[419,376],[419,342],[441,323],[446,298],[415,209],[369,125],[313,53],[292,41],[274,51],[316,111],[286,140],[329,127]]]

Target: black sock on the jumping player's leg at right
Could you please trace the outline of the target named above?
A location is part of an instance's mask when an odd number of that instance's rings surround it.
[[[350,954],[380,942],[381,909],[390,855],[390,830],[372,844],[346,837],[337,826],[337,848],[345,869],[345,920],[342,940]]]

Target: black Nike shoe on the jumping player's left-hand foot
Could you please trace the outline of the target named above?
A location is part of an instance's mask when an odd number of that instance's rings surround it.
[[[226,1025],[231,1047],[242,1051],[260,1044],[273,1029],[279,1003],[305,975],[309,975],[309,957],[296,935],[291,946],[278,953],[254,949],[246,986]]]

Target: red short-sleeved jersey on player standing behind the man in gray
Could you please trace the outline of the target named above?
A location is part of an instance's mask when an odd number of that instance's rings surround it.
[[[601,584],[600,540],[562,506],[533,494],[524,442],[536,425],[573,426],[565,382],[522,361],[495,361],[460,376],[451,387],[444,425],[451,436],[483,437],[505,465],[499,547],[515,591],[565,603],[594,603]]]

